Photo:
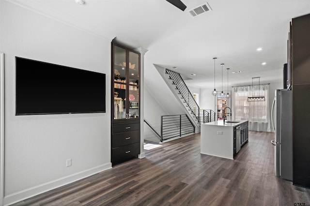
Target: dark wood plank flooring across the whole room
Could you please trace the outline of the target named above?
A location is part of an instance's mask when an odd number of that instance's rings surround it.
[[[309,205],[309,190],[275,177],[273,138],[250,131],[249,142],[228,160],[200,154],[200,134],[193,134],[15,206]]]

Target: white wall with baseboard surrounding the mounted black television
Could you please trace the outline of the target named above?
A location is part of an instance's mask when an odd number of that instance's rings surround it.
[[[9,204],[110,168],[110,41],[5,0],[0,19]],[[107,113],[15,116],[15,56],[107,74]]]

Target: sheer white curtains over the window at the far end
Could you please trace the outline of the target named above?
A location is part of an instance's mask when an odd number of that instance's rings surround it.
[[[270,132],[269,85],[233,87],[233,119],[248,120],[248,129]],[[265,97],[265,101],[248,102],[248,97]]]

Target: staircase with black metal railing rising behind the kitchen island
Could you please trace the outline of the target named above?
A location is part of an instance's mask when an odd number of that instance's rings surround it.
[[[215,121],[215,112],[212,110],[201,110],[187,88],[184,80],[179,73],[165,69],[162,75],[175,96],[186,108],[193,124],[200,129],[201,123]]]

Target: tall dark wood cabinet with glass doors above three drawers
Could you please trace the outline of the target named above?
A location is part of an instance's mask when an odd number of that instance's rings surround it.
[[[111,44],[111,162],[140,154],[140,53]]]

